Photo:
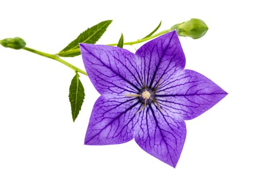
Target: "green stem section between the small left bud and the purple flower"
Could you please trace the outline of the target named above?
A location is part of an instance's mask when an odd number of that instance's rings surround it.
[[[56,56],[56,55],[48,54],[48,53],[41,52],[41,51],[37,51],[37,50],[34,50],[34,49],[30,49],[30,48],[28,48],[28,47],[24,47],[23,50],[30,51],[30,52],[34,52],[34,53],[39,54],[39,55],[41,55],[41,56],[44,56],[44,57],[51,58],[51,59],[53,59],[53,60],[59,61],[60,63],[66,65],[67,67],[72,68],[74,71],[80,72],[80,73],[82,73],[82,74],[84,74],[84,75],[87,75],[87,73],[86,73],[85,71],[83,71],[83,70],[81,70],[81,69],[79,69],[79,68],[73,66],[72,64],[66,62],[65,60],[62,60],[61,58],[59,58],[59,57]]]

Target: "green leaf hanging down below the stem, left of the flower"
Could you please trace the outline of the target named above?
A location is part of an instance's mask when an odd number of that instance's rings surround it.
[[[79,115],[79,111],[81,110],[82,103],[84,100],[84,88],[79,80],[79,74],[76,73],[74,78],[71,81],[71,85],[69,87],[69,101],[71,103],[71,111],[72,118],[75,121]]]

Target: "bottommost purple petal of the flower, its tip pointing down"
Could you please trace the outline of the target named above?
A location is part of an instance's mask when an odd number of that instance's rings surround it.
[[[135,141],[147,153],[176,167],[186,138],[186,124],[182,117],[156,104],[148,105],[140,113]]]

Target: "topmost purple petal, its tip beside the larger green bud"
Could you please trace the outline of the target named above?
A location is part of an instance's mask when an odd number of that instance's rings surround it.
[[[138,70],[149,88],[154,88],[164,74],[173,74],[185,67],[176,31],[159,36],[136,51]]]

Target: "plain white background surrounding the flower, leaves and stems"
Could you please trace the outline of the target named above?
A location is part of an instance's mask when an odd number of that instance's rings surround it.
[[[196,119],[176,170],[255,170],[256,21],[253,0],[1,0],[0,39],[20,36],[27,47],[57,53],[80,32],[113,19],[97,44],[132,41],[196,17],[208,33],[181,37],[186,68],[229,95]],[[142,44],[135,45],[138,49]],[[125,47],[135,52],[133,47]],[[67,58],[84,69],[81,56]],[[72,121],[68,89],[74,72],[28,51],[0,47],[0,170],[172,170],[134,140],[86,146],[83,139],[99,94],[81,75],[86,97]]]

